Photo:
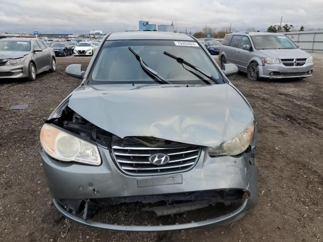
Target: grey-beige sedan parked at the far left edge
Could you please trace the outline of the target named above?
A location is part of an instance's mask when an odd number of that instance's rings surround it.
[[[27,78],[56,71],[54,50],[35,38],[6,38],[0,40],[0,79]]]

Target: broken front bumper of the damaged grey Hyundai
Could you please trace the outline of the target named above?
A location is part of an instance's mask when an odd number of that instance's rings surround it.
[[[49,157],[43,150],[40,152],[55,206],[66,217],[85,225],[131,231],[193,228],[235,221],[257,203],[257,167],[254,165],[254,158],[250,152],[244,152],[235,157],[209,157],[206,148],[203,148],[195,167],[178,173],[182,177],[180,182],[171,185],[170,183],[152,183],[139,186],[139,180],[148,177],[126,175],[117,168],[109,150],[99,147],[99,151],[102,158],[100,166],[59,162]],[[169,176],[172,175],[151,177],[163,179]],[[67,212],[59,202],[65,199],[104,199],[230,189],[239,189],[249,194],[249,197],[235,211],[205,221],[164,226],[124,226],[90,222]]]

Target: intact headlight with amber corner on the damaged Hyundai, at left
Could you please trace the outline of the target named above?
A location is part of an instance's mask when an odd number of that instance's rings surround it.
[[[100,165],[101,159],[96,145],[44,124],[40,131],[40,143],[45,152],[60,161],[75,161]]]

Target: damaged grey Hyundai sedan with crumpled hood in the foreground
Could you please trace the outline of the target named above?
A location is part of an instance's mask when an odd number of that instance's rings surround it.
[[[257,123],[227,79],[235,65],[221,71],[195,38],[179,33],[112,33],[98,51],[86,72],[66,68],[82,83],[40,132],[42,167],[62,214],[94,227],[160,231],[237,220],[255,206]],[[157,216],[237,207],[166,226],[88,220],[135,202]]]

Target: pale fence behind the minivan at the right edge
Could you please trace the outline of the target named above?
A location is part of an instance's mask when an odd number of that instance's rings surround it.
[[[311,52],[323,52],[323,30],[285,32],[299,48]]]

